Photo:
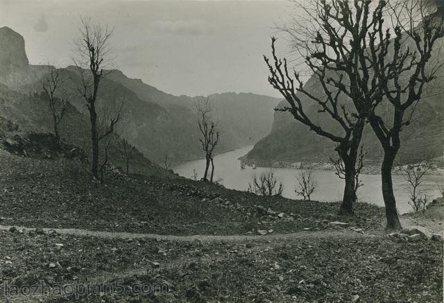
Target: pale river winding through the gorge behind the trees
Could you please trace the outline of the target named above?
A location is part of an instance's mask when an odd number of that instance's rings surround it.
[[[216,166],[214,173],[215,179],[221,178],[221,183],[228,189],[245,191],[253,175],[256,174],[259,176],[262,171],[268,171],[269,169],[262,167],[253,169],[249,166],[246,166],[243,170],[241,169],[241,162],[238,158],[246,155],[252,148],[253,146],[239,148],[214,157],[214,165]],[[186,178],[191,178],[194,175],[194,170],[196,170],[198,178],[201,178],[204,169],[205,159],[184,162],[173,167],[175,173]],[[273,168],[273,171],[284,185],[282,196],[296,199],[294,189],[296,176],[300,170],[294,168]],[[317,187],[311,196],[311,200],[338,201],[342,199],[343,180],[339,179],[339,177],[334,174],[334,171],[314,170],[312,175],[314,176],[314,180],[316,180]],[[366,201],[384,206],[380,175],[361,175],[361,180],[364,185],[358,189],[358,202]],[[443,176],[426,175],[420,190],[422,193],[426,193],[428,198],[436,198],[439,196],[438,182],[443,182]],[[401,175],[393,175],[393,187],[395,189],[395,197],[400,214],[411,211],[411,206],[407,203],[409,200],[409,184],[407,184]]]

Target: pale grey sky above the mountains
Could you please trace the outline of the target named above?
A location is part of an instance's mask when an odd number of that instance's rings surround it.
[[[0,0],[0,27],[24,36],[31,64],[72,64],[80,16],[114,28],[114,66],[175,95],[279,96],[263,54],[291,1]],[[288,43],[280,44],[289,49]]]

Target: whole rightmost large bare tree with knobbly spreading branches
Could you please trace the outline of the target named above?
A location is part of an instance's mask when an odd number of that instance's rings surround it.
[[[314,26],[302,28],[318,29],[309,40],[295,35],[296,49],[306,52],[315,44],[316,51],[309,52],[308,58],[317,63],[307,60],[309,66],[316,67],[315,73],[317,67],[335,73],[327,82],[338,89],[337,94],[350,98],[353,116],[370,123],[384,150],[386,227],[399,230],[391,171],[401,145],[400,132],[411,123],[425,85],[443,66],[443,62],[429,62],[444,33],[442,14],[425,0],[307,0],[306,7],[308,3],[311,6],[305,12]]]

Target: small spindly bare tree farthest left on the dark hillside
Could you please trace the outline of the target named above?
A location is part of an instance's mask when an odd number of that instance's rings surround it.
[[[60,85],[62,85],[60,71],[58,69],[51,69],[49,74],[40,80],[40,84],[42,85],[44,99],[48,101],[49,109],[53,116],[54,136],[57,141],[60,141],[58,125],[62,121],[63,116],[65,116],[69,105],[69,101],[66,98],[56,96]]]

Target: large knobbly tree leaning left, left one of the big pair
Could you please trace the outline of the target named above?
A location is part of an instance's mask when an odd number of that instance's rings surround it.
[[[301,49],[304,49],[303,56],[305,58],[305,64],[314,78],[316,78],[316,85],[318,85],[323,94],[321,96],[319,94],[313,94],[311,87],[305,85],[299,73],[289,71],[287,59],[284,58],[282,60],[276,55],[276,39],[273,37],[271,44],[273,62],[270,62],[270,60],[264,56],[264,60],[270,71],[268,82],[284,96],[289,104],[289,106],[275,108],[275,110],[290,112],[294,119],[307,125],[311,131],[330,139],[336,144],[336,152],[343,162],[345,180],[344,195],[339,214],[351,215],[353,214],[353,203],[356,200],[356,161],[365,120],[358,116],[355,111],[349,110],[345,106],[344,101],[347,100],[349,96],[344,94],[341,89],[338,89],[338,86],[344,85],[345,77],[341,75],[339,77],[340,80],[336,83],[331,80],[331,73],[334,71],[336,74],[336,70],[339,69],[339,62],[325,64],[323,60],[319,59],[318,32],[299,32],[298,30],[294,30],[297,31],[295,33],[288,28],[287,31],[296,39],[296,43],[298,43],[298,47],[300,48],[299,50],[302,52]],[[323,43],[326,44],[327,42]],[[310,116],[309,111],[311,105],[318,107],[318,113]],[[316,123],[315,119],[317,119],[320,114],[323,114],[324,119],[331,119],[339,129],[328,130],[321,126],[321,121]]]

